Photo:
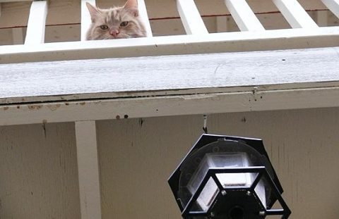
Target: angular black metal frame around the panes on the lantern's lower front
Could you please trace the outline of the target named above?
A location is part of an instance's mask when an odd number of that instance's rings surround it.
[[[256,175],[256,179],[254,180],[253,184],[251,184],[251,187],[224,188],[222,187],[222,184],[220,183],[220,181],[218,180],[218,177],[216,176],[216,174],[220,174],[220,173],[258,173],[258,175]],[[188,204],[182,211],[183,218],[191,218],[194,216],[205,216],[205,217],[210,216],[210,213],[211,213],[210,208],[208,209],[208,211],[191,211],[190,210],[192,206],[194,205],[194,203],[197,201],[198,196],[203,191],[203,188],[206,186],[206,183],[208,182],[208,180],[210,180],[210,177],[212,177],[215,184],[218,186],[218,189],[219,189],[218,196],[222,195],[221,194],[222,191],[225,191],[227,193],[227,191],[230,192],[230,191],[239,190],[239,189],[245,190],[246,192],[247,191],[251,192],[251,194],[256,194],[256,192],[254,191],[254,189],[256,188],[256,185],[258,184],[258,182],[260,182],[260,180],[263,177],[266,177],[266,180],[269,186],[272,187],[272,192],[275,195],[275,198],[279,201],[283,209],[266,209],[264,205],[261,203],[261,200],[258,199],[258,201],[260,202],[261,208],[262,208],[262,212],[264,212],[263,217],[266,217],[266,215],[282,215],[281,217],[282,219],[287,219],[291,214],[290,208],[288,208],[283,197],[281,196],[281,193],[279,192],[278,187],[273,182],[266,168],[264,166],[256,166],[256,167],[246,167],[246,168],[210,168],[208,172],[206,173],[205,177],[203,178],[201,184],[196,189],[196,192],[194,192],[194,194],[191,196],[191,199],[189,200]],[[213,202],[215,202],[215,200]],[[213,206],[213,204],[211,206]]]

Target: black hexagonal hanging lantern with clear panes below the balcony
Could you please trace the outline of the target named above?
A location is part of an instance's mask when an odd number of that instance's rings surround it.
[[[261,139],[203,134],[169,177],[183,218],[288,218]],[[281,208],[273,208],[278,201]]]

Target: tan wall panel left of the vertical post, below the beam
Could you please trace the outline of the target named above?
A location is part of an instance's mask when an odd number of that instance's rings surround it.
[[[0,126],[1,219],[81,219],[73,123]]]

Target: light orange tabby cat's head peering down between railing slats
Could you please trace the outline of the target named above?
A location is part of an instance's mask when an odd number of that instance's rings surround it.
[[[97,8],[86,3],[92,23],[86,39],[122,39],[146,37],[145,26],[138,15],[138,0],[128,0],[122,7]]]

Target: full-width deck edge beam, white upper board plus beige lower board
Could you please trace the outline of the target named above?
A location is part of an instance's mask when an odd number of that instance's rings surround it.
[[[0,65],[0,125],[338,107],[338,49]]]

